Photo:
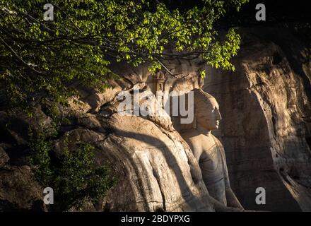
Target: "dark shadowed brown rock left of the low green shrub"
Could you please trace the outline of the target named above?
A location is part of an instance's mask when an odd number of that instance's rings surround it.
[[[51,119],[40,109],[33,118],[26,114],[0,115],[0,211],[46,211],[44,188],[35,182],[27,160],[26,131],[32,124],[48,134]]]

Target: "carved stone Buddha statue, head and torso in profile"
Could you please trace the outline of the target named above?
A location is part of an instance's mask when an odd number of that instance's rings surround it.
[[[182,130],[201,168],[209,194],[225,206],[242,208],[230,187],[225,151],[211,131],[218,129],[221,113],[216,99],[201,89],[194,89],[194,122]]]

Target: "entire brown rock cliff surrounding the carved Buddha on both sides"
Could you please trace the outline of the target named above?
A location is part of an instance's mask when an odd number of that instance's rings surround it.
[[[214,133],[223,142],[230,183],[246,209],[311,210],[311,60],[307,35],[297,30],[244,28],[236,71],[206,69],[204,90],[215,96],[223,116]],[[310,37],[310,36],[309,36]],[[84,141],[95,147],[98,165],[110,165],[117,184],[92,211],[232,211],[213,201],[192,151],[178,133],[174,118],[117,114],[117,94],[139,88],[151,105],[161,105],[155,91],[188,91],[202,85],[199,62],[171,62],[187,78],[148,76],[145,67],[119,64],[122,81],[100,93],[81,88],[69,100],[70,124],[59,128],[54,152]],[[133,109],[130,109],[132,112]],[[160,110],[161,111],[161,110]],[[46,210],[43,188],[28,162],[27,131],[52,133],[52,119],[37,107],[35,117],[0,112],[0,210]],[[255,189],[266,189],[266,205],[255,203]]]

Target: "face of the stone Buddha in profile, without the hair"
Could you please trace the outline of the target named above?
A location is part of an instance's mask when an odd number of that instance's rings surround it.
[[[196,120],[204,129],[209,131],[218,129],[221,121],[221,112],[215,98],[209,98],[204,106],[198,106],[196,109]]]

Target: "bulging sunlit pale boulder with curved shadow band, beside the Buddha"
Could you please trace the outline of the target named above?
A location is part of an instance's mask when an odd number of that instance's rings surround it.
[[[153,111],[154,95],[148,89],[141,90],[141,95],[150,97],[141,103]],[[198,162],[172,128],[168,114],[155,111],[154,117],[122,116],[116,112],[118,104],[115,99],[107,109],[104,107],[93,115],[92,120],[97,120],[105,132],[91,130],[87,124],[66,132],[70,145],[80,141],[91,143],[98,165],[110,165],[118,179],[102,204],[97,205],[98,210],[234,210],[213,203]],[[57,147],[61,150],[61,142]]]

